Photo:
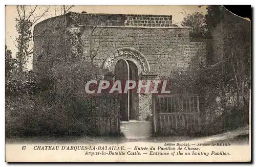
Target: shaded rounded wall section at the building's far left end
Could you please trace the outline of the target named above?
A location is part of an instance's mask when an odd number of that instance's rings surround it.
[[[44,71],[66,62],[69,35],[64,16],[41,21],[34,27],[33,70]]]

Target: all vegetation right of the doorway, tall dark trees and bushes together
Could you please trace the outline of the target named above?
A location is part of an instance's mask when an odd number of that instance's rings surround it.
[[[251,83],[250,22],[222,6],[208,6],[204,16],[186,16],[190,39],[207,41],[207,61],[200,68],[174,71],[172,93],[200,96],[202,131],[214,134],[249,125]]]

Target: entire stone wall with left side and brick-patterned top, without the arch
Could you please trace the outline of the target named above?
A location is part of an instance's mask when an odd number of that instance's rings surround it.
[[[69,13],[66,15],[67,22],[64,20],[64,16],[53,17],[35,26],[34,69],[40,66],[41,63],[36,65],[39,59],[40,62],[46,61],[51,64],[69,62],[72,59],[71,52],[79,49],[82,50],[81,53],[75,55],[81,55],[88,62],[91,61],[91,50],[97,51],[93,61],[102,66],[105,58],[112,52],[122,47],[132,47],[146,57],[152,73],[165,76],[169,75],[172,69],[196,65],[205,59],[205,43],[190,43],[188,28],[157,25],[157,21],[169,24],[172,16]],[[83,25],[85,21],[93,25],[96,20],[97,25],[104,25],[102,22],[108,25],[108,22],[112,22],[113,26],[97,26],[92,34],[94,27]],[[125,27],[127,22],[145,23],[145,20],[150,20],[146,27]],[[80,22],[75,25],[75,21]],[[160,27],[148,27],[148,24],[154,24],[153,22]],[[74,32],[74,29],[81,37],[74,33],[69,34]]]

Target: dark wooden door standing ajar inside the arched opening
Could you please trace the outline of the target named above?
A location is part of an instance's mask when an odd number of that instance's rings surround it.
[[[122,92],[126,81],[133,80],[138,83],[138,68],[130,60],[120,59],[115,66],[115,81],[120,80]],[[127,93],[119,94],[120,98],[120,121],[138,120],[139,118],[139,97],[136,90],[129,90]]]

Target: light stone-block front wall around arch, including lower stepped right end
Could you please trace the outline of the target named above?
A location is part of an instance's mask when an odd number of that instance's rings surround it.
[[[187,28],[145,29],[99,27],[91,36],[92,27],[82,33],[84,57],[88,58],[91,46],[97,50],[94,62],[102,66],[103,61],[116,49],[132,47],[140,51],[150,64],[151,72],[169,75],[172,69],[187,67],[204,60],[204,43],[189,43]],[[91,45],[91,41],[93,45]]]

